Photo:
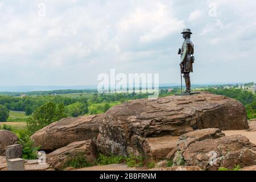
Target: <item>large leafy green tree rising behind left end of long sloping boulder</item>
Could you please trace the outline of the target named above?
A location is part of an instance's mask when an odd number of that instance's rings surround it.
[[[43,127],[66,117],[63,104],[55,104],[52,101],[46,102],[27,119],[27,134],[31,136]]]

